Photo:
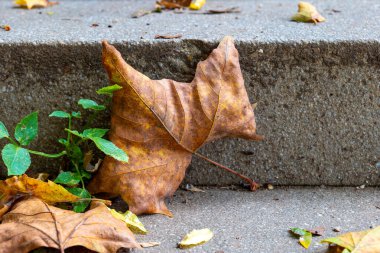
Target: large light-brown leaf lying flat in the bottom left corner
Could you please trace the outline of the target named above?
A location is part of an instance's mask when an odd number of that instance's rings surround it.
[[[1,252],[29,252],[40,247],[65,249],[83,246],[96,252],[140,248],[125,223],[114,218],[101,202],[85,213],[49,206],[31,197],[15,204],[0,225]]]

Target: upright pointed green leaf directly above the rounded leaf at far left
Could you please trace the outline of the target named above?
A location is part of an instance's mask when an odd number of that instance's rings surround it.
[[[21,145],[28,145],[38,133],[38,112],[33,112],[23,118],[16,126],[15,138]]]

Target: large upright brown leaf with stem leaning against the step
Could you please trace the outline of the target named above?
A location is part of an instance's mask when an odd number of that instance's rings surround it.
[[[192,155],[217,164],[196,153],[205,143],[223,137],[261,139],[231,37],[198,64],[191,83],[151,80],[107,42],[103,64],[111,83],[123,87],[113,94],[109,137],[130,161],[107,156],[89,189],[121,195],[137,215],[171,216],[164,199],[177,190]]]

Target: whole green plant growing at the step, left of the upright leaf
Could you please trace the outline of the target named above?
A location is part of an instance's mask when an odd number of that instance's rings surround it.
[[[107,86],[97,91],[98,94],[112,96],[112,93],[121,89],[118,85]],[[55,183],[65,185],[67,189],[83,199],[90,199],[91,195],[85,188],[85,180],[91,178],[91,174],[86,171],[85,156],[92,154],[92,151],[85,152],[89,147],[89,142],[105,153],[121,162],[128,162],[128,155],[112,142],[103,137],[108,129],[89,128],[100,111],[106,109],[106,106],[99,105],[90,99],[80,99],[78,104],[83,109],[90,110],[92,114],[88,117],[87,123],[82,132],[73,129],[73,121],[82,117],[80,112],[54,111],[49,117],[56,117],[68,120],[68,126],[65,128],[66,138],[58,139],[63,145],[63,150],[56,154],[47,154],[40,151],[28,149],[27,146],[36,139],[38,134],[38,112],[33,112],[25,116],[17,125],[14,132],[14,138],[11,137],[4,123],[0,121],[0,139],[6,138],[9,143],[6,144],[1,152],[2,159],[8,169],[8,176],[24,174],[31,164],[32,155],[39,155],[46,158],[59,158],[66,156],[69,160],[67,171],[61,171]],[[80,187],[77,187],[79,186]],[[89,204],[89,200],[74,203],[74,211],[83,212]]]

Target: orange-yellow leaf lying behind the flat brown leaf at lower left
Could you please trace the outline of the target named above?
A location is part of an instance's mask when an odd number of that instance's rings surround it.
[[[3,205],[20,195],[35,196],[49,204],[79,200],[79,197],[71,194],[61,185],[52,181],[43,182],[25,174],[0,181],[0,192],[2,194],[0,203]]]

